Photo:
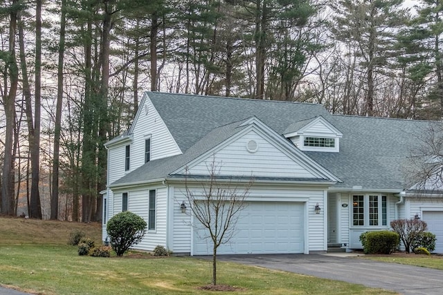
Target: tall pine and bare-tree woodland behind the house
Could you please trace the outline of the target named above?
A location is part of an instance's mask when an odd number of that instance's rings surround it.
[[[100,221],[143,91],[441,120],[443,4],[404,2],[0,0],[0,213]]]

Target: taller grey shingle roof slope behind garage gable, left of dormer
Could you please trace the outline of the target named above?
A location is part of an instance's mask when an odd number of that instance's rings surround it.
[[[329,115],[320,104],[172,93],[146,93],[181,151],[219,126],[257,117],[279,134],[293,122]]]

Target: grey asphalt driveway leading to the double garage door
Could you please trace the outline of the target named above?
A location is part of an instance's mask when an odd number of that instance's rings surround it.
[[[212,259],[212,256],[197,257]],[[443,294],[442,270],[381,263],[345,254],[219,255],[218,260],[343,280],[405,295]]]

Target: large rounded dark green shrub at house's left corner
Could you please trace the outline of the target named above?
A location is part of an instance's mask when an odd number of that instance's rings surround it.
[[[112,249],[117,256],[122,256],[145,236],[146,222],[137,214],[124,211],[109,219],[106,229]]]

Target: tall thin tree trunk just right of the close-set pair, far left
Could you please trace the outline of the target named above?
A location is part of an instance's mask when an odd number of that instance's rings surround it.
[[[60,19],[60,41],[58,52],[58,70],[57,70],[57,105],[55,107],[55,126],[54,126],[54,156],[53,156],[53,191],[51,195],[51,219],[58,219],[58,179],[60,167],[60,131],[62,124],[62,105],[63,105],[63,66],[64,66],[64,36],[66,26],[66,0],[62,0],[61,19]]]

